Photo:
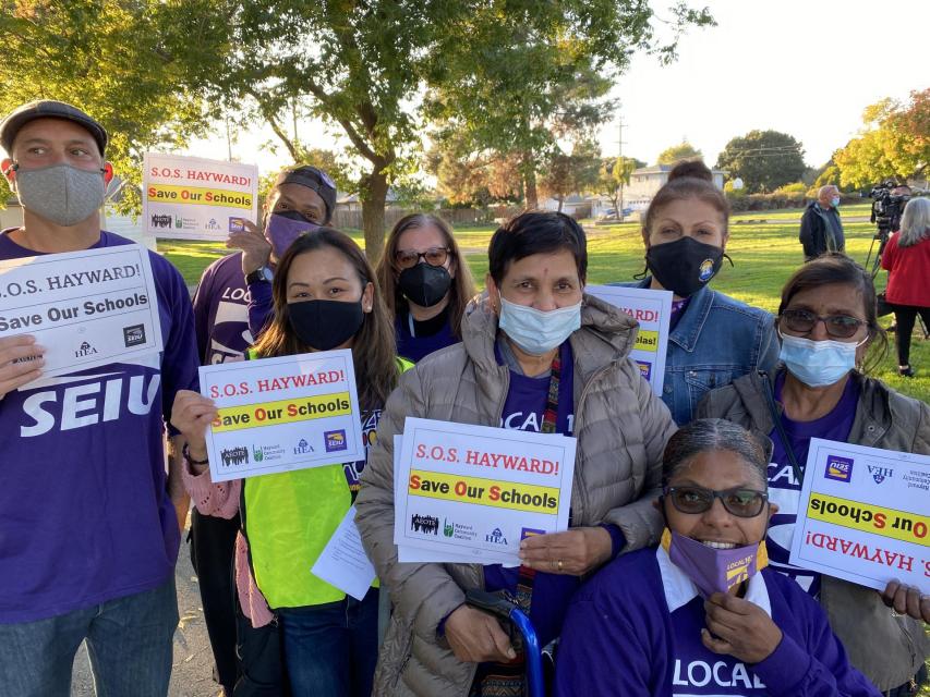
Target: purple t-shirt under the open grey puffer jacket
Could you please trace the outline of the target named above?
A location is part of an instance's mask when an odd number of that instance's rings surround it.
[[[559,352],[561,375],[558,383],[556,430],[564,436],[570,436],[575,420],[575,367],[569,342],[561,344]],[[503,363],[499,354],[497,359]],[[530,378],[511,370],[510,390],[504,403],[500,426],[539,432],[548,402],[548,377]],[[488,564],[484,567],[484,587],[487,590],[507,589],[515,592],[518,577],[518,568],[504,568],[500,564]],[[568,601],[579,585],[581,579],[577,576],[536,573],[530,619],[543,646],[559,635]]]

